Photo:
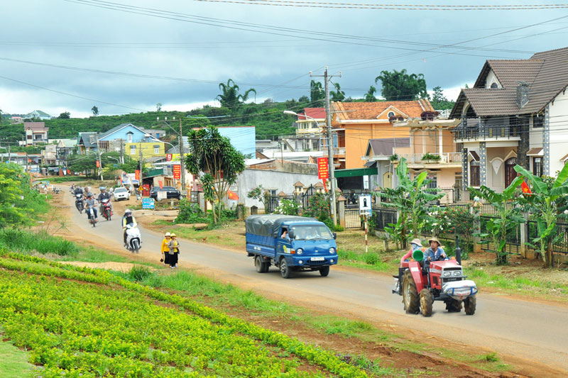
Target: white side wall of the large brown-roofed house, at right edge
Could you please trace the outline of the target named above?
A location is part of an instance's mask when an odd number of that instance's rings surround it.
[[[556,96],[554,105],[549,104],[550,110],[550,176],[564,167],[560,161],[568,154],[568,90],[565,94]]]

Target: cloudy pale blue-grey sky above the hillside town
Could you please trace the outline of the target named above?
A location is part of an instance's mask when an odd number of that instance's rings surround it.
[[[214,104],[219,82],[229,78],[255,88],[256,101],[297,99],[308,94],[309,72],[322,74],[325,65],[330,74],[342,72],[333,80],[347,96],[363,96],[382,70],[406,69],[455,99],[486,59],[568,46],[567,7],[346,9],[329,4],[427,2],[252,1],[2,1],[0,109],[73,117],[92,114],[94,105],[101,114],[155,110],[157,103],[190,110]]]

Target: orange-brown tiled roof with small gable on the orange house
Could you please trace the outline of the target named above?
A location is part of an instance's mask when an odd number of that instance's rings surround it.
[[[337,118],[342,120],[377,119],[381,113],[393,106],[408,117],[420,117],[423,111],[434,111],[430,101],[426,99],[418,101],[376,101],[376,102],[332,102],[332,111],[339,111]],[[336,118],[336,116],[334,116]],[[386,114],[382,118],[388,119]]]

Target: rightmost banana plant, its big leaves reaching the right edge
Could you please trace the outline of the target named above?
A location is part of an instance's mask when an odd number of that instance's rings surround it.
[[[537,219],[538,236],[531,240],[532,245],[540,252],[544,267],[553,267],[552,245],[555,242],[556,222],[561,211],[559,199],[568,194],[568,164],[564,165],[552,186],[520,165],[515,165],[515,171],[527,179],[532,186],[532,193],[525,193],[525,200]]]

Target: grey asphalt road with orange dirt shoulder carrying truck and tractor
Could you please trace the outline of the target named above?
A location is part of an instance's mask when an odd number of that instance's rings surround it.
[[[72,203],[68,191],[65,195]],[[109,248],[121,248],[121,214],[112,221],[99,217],[97,227],[92,228],[84,213],[72,210],[73,229],[82,238]],[[159,260],[162,235],[145,229],[141,233],[141,257]],[[268,273],[257,273],[253,259],[246,257],[245,251],[223,250],[183,239],[180,251],[181,267],[202,270],[223,282],[272,298],[388,326],[395,333],[415,339],[434,339],[440,348],[444,343],[486,348],[521,366],[546,368],[540,376],[568,376],[568,306],[481,291],[474,316],[466,316],[464,311],[447,313],[442,302],[435,302],[432,317],[424,318],[404,313],[402,297],[391,294],[393,278],[384,274],[332,267],[329,277],[305,272],[283,279],[275,267]]]

